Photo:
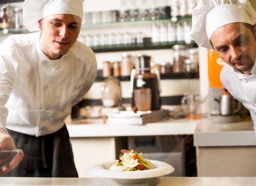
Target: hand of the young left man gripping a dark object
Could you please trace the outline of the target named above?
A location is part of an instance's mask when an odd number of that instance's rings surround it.
[[[16,146],[14,144],[14,141],[12,137],[2,128],[0,128],[0,151],[1,150],[15,150]],[[22,158],[24,156],[23,151],[21,153],[18,153],[14,156],[12,161],[9,163],[9,165],[0,168],[0,176],[3,176],[6,173],[11,172],[15,167],[17,167]]]

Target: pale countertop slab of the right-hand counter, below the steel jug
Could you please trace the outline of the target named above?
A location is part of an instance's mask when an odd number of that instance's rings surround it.
[[[194,146],[256,146],[253,122],[211,123],[204,120],[196,126]]]

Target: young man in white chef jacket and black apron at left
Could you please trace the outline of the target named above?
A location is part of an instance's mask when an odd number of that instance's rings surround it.
[[[82,0],[25,0],[33,33],[0,45],[0,150],[23,150],[0,175],[78,176],[64,120],[97,71],[93,51],[77,41],[82,18]]]

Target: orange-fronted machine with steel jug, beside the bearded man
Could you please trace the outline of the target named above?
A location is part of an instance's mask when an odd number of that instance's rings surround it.
[[[223,88],[220,81],[220,71],[225,64],[213,49],[208,49],[208,77],[210,120],[212,123],[227,123],[240,121],[237,112],[240,104]]]

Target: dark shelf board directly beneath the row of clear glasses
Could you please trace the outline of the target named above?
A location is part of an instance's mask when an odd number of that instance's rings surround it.
[[[168,43],[147,43],[147,44],[130,44],[130,45],[111,45],[111,46],[91,46],[94,53],[107,53],[107,52],[125,52],[136,50],[156,50],[156,49],[171,49],[173,45],[187,45],[188,48],[197,47],[193,41],[191,44],[186,44],[185,41],[168,42]]]

